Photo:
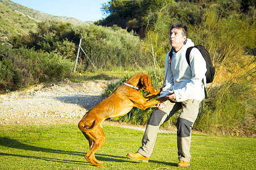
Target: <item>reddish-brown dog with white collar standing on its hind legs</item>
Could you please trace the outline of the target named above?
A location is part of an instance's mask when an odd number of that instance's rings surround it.
[[[139,88],[149,92],[151,95],[143,97]],[[98,161],[94,154],[105,142],[105,135],[101,123],[106,118],[120,117],[128,113],[133,107],[146,109],[160,101],[166,100],[165,97],[148,101],[159,94],[152,85],[152,80],[147,74],[135,74],[124,84],[119,86],[106,99],[102,100],[95,107],[90,109],[79,122],[79,129],[89,141],[89,152],[85,159],[97,167],[103,167],[103,162]]]

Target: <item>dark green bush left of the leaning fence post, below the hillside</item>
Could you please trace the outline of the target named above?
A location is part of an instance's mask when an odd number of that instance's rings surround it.
[[[36,32],[10,37],[10,42],[13,48],[25,47],[48,53],[55,51],[65,58],[74,58],[79,35],[75,34],[70,23],[46,20],[38,23]]]

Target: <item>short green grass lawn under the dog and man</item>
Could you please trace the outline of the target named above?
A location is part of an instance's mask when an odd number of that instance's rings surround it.
[[[84,159],[88,141],[77,125],[1,125],[0,169],[182,169],[176,167],[176,134],[158,134],[148,163],[126,158],[141,146],[143,131],[104,125],[96,152],[104,168]],[[254,138],[192,134],[191,166],[185,169],[255,169]]]

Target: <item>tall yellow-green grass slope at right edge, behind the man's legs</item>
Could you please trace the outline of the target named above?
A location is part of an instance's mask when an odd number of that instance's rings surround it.
[[[212,88],[196,129],[237,136],[256,133],[255,65],[247,66],[245,73],[238,70],[236,76]]]

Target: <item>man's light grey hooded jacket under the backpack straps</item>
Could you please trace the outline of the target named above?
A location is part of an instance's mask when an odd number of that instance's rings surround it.
[[[171,66],[168,70],[169,53],[166,55],[166,82],[159,97],[169,95],[168,91],[174,91],[176,101],[181,102],[188,99],[203,100],[205,73],[207,71],[206,62],[200,51],[196,48],[191,50],[189,59],[191,67],[188,65],[185,53],[187,48],[194,46],[194,43],[187,39],[187,43],[176,53],[172,53]],[[204,84],[202,80],[204,79]]]

